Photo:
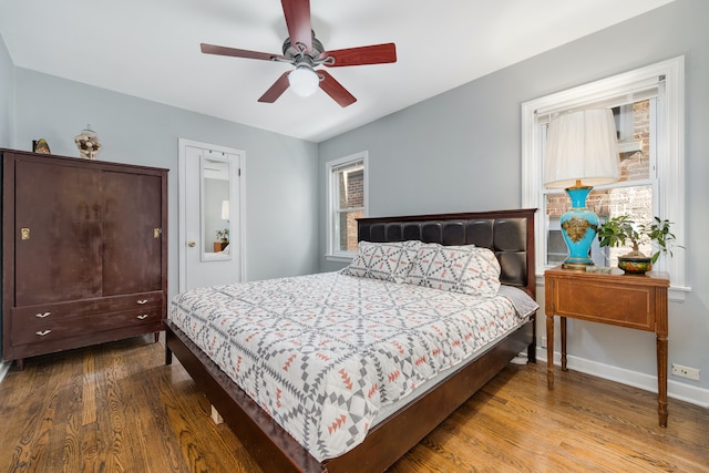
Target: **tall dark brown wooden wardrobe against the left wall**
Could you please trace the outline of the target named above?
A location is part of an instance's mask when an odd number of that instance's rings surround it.
[[[157,333],[167,169],[0,150],[2,358]]]

